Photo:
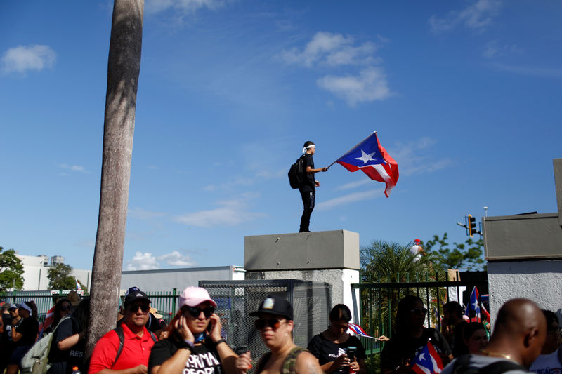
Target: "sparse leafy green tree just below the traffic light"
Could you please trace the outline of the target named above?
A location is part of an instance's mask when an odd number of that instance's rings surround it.
[[[484,268],[482,239],[473,241],[469,238],[464,243],[452,243],[451,246],[445,232],[443,237],[433,235],[433,239],[422,242],[421,246],[426,253],[431,253],[444,269],[483,270]]]

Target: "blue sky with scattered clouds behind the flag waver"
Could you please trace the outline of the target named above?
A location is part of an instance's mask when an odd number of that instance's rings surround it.
[[[0,3],[0,246],[91,268],[110,1]],[[147,0],[124,269],[243,265],[296,232],[287,171],[377,131],[391,196],[334,165],[311,230],[408,243],[556,211],[559,1]]]

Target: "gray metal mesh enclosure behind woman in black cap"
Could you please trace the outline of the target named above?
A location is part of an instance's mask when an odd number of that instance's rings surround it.
[[[332,309],[332,288],[329,283],[288,280],[268,281],[200,281],[200,287],[209,291],[218,304],[223,335],[237,353],[251,351],[257,360],[267,352],[259,332],[254,328],[254,317],[248,314],[258,309],[268,295],[280,295],[294,309],[293,338],[296,345],[306,347],[313,335],[325,330],[329,310]]]

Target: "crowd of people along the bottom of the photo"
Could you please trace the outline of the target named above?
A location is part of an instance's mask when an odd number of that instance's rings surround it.
[[[343,304],[329,312],[329,326],[306,349],[294,344],[294,311],[278,295],[261,301],[254,326],[268,352],[237,354],[223,336],[216,302],[207,290],[188,287],[179,309],[167,324],[151,308],[150,298],[131,287],[121,307],[117,327],[103,335],[85,360],[85,334],[90,299],[69,295],[56,300],[52,315],[40,325],[33,301],[6,304],[0,322],[0,373],[15,374],[26,352],[41,336],[52,333],[48,351],[51,374],[366,374],[365,348],[348,333],[351,311]],[[442,328],[426,327],[427,309],[421,298],[408,295],[398,302],[396,323],[381,351],[381,373],[414,373],[414,361],[428,343],[440,357],[443,374],[561,373],[561,327],[554,312],[534,302],[513,299],[497,314],[488,342],[486,326],[465,321],[458,302],[443,306]],[[255,365],[254,365],[255,364]]]

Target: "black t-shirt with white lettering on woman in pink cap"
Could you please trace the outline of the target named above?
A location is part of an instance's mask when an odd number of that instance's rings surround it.
[[[153,367],[162,365],[174,356],[178,350],[178,341],[174,338],[159,340],[152,346],[148,359],[148,373]],[[215,343],[207,338],[201,345],[195,345],[185,363],[183,374],[223,374],[221,358],[216,352]]]

